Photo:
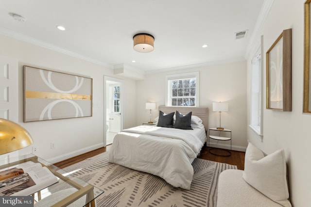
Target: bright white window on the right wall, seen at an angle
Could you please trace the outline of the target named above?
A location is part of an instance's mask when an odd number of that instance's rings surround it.
[[[263,58],[262,49],[258,49],[252,59],[251,67],[251,104],[250,104],[250,124],[249,127],[262,140],[263,132]],[[257,80],[256,80],[257,79]]]

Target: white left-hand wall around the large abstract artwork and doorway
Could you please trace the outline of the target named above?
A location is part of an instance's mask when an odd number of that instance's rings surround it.
[[[0,35],[0,45],[0,55],[18,59],[18,119],[38,146],[36,155],[55,162],[103,146],[104,75],[113,76],[112,69],[3,35]],[[23,65],[92,78],[93,103],[98,105],[93,107],[93,116],[23,123]],[[124,85],[125,112],[135,119],[136,101],[132,97],[136,96],[136,83],[125,79]],[[131,120],[125,119],[125,127],[131,125]],[[51,149],[51,142],[56,148]],[[32,147],[23,151],[31,152]]]

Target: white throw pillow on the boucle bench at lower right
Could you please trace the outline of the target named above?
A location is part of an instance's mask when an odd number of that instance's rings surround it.
[[[271,200],[291,207],[283,149],[264,156],[259,148],[248,143],[245,152],[243,179]]]

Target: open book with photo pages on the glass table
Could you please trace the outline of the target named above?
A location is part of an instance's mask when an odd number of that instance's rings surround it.
[[[58,181],[47,167],[28,161],[0,172],[0,196],[26,196]]]

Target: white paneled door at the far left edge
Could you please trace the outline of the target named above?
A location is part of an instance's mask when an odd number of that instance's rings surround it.
[[[0,56],[0,118],[18,123],[18,61]],[[12,152],[0,156],[0,163],[7,163]]]

